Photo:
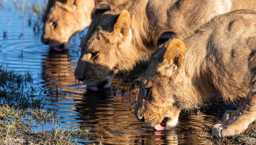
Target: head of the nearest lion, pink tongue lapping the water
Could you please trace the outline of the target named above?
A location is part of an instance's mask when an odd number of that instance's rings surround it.
[[[158,40],[157,51],[151,56],[141,78],[142,85],[135,109],[137,119],[156,130],[177,125],[180,110],[183,109],[173,90],[177,82],[182,83],[178,76],[182,74],[185,44],[174,38],[161,44],[165,41],[163,39],[170,38],[172,34],[164,33]]]

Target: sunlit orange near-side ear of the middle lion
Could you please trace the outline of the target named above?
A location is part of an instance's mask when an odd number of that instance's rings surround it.
[[[123,10],[119,14],[117,21],[114,26],[114,33],[121,33],[123,36],[127,35],[131,25],[130,13],[126,10]]]

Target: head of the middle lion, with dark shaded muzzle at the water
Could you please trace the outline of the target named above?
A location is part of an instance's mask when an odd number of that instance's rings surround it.
[[[129,49],[132,39],[130,14],[126,10],[109,10],[107,4],[94,8],[92,24],[81,44],[81,57],[75,70],[75,77],[93,91],[109,88],[116,72],[132,68],[129,61],[135,64],[135,60],[129,58],[133,55],[133,50]]]

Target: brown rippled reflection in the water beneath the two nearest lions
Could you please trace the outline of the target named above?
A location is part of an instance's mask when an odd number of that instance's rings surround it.
[[[93,127],[98,140],[105,136],[108,144],[205,144],[211,143],[205,125],[212,125],[214,117],[181,114],[180,125],[172,131],[154,131],[134,117],[133,98],[125,95],[106,96],[87,92],[83,102],[77,104],[77,111],[83,120],[82,125]],[[208,137],[207,137],[208,136]]]

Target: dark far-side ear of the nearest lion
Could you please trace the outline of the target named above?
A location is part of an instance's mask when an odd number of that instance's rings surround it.
[[[170,39],[174,39],[174,38],[178,38],[178,35],[176,33],[174,33],[173,31],[165,31],[158,38],[156,43],[156,49],[163,46],[163,44],[170,41]]]

